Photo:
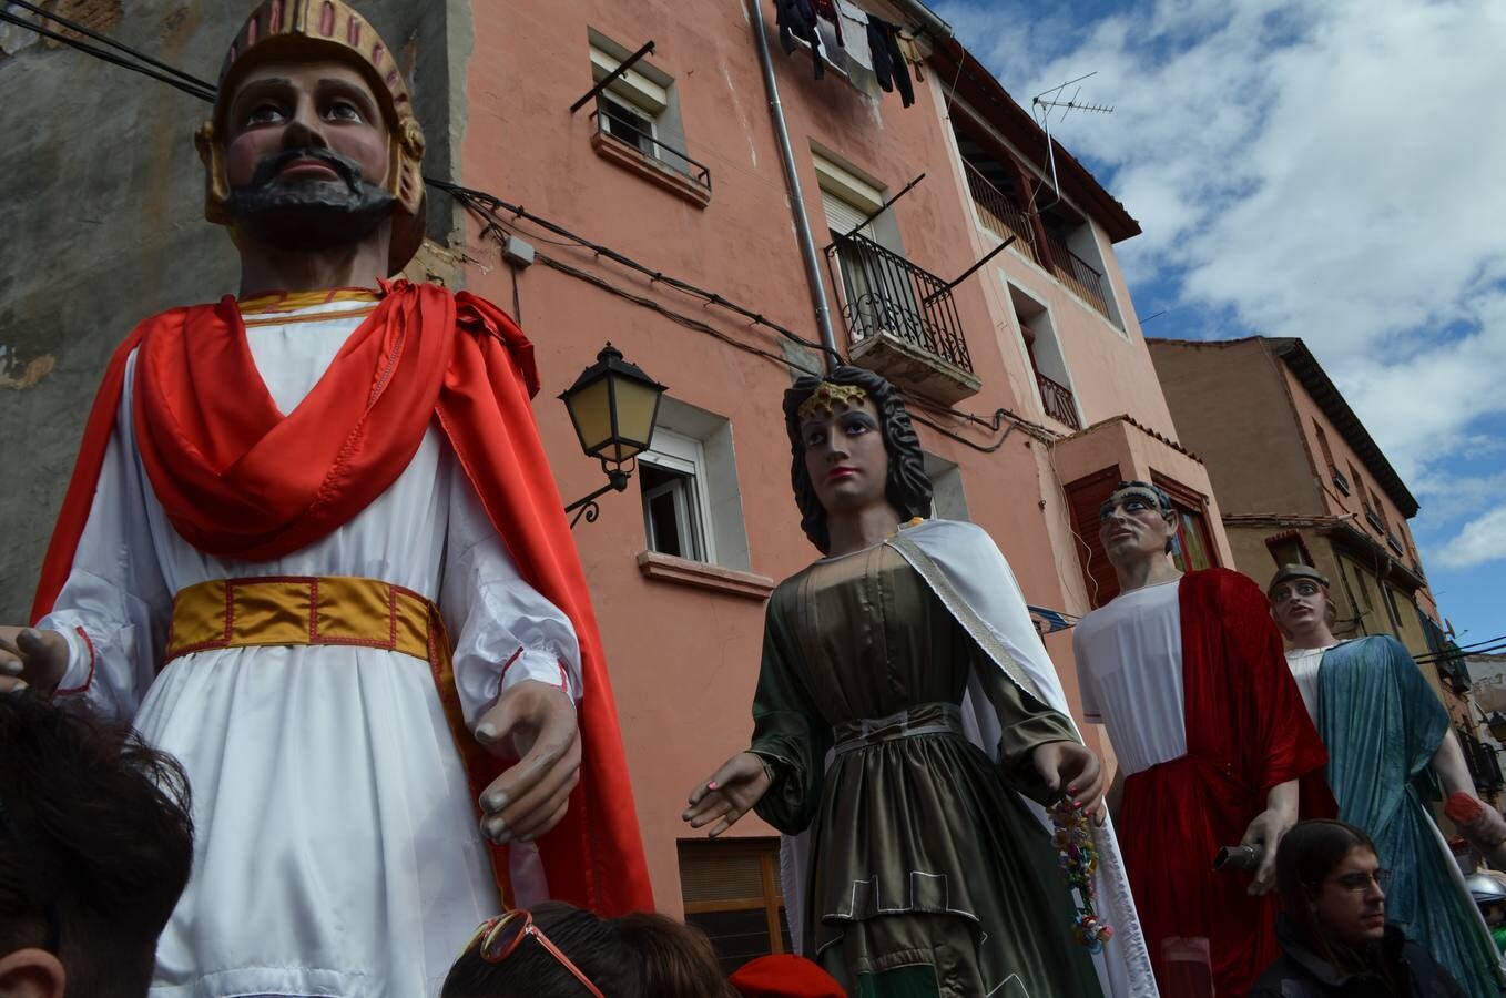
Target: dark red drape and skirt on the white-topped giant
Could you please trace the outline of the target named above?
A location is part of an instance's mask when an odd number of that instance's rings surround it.
[[[1282,652],[1270,605],[1238,572],[1182,577],[1182,695],[1187,756],[1125,780],[1116,822],[1125,872],[1167,998],[1206,995],[1167,938],[1208,939],[1217,995],[1245,993],[1277,956],[1276,896],[1251,897],[1251,876],[1214,872],[1271,787],[1301,780],[1300,817],[1333,817],[1328,762]]]

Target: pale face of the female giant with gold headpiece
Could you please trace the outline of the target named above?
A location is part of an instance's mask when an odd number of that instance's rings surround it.
[[[889,452],[870,399],[816,409],[800,421],[806,474],[827,513],[857,512],[886,503]]]

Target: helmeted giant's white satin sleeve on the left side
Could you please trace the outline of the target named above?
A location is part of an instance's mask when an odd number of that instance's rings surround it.
[[[38,622],[68,640],[68,670],[56,695],[125,721],[136,717],[157,676],[173,604],[152,543],[146,473],[136,453],[134,369],[133,357],[68,581],[53,611]]]

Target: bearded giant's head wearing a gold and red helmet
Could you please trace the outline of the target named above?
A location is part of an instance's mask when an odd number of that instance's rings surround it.
[[[205,215],[238,242],[319,251],[392,227],[389,272],[423,239],[423,132],[392,51],[339,0],[267,0],[196,137]]]

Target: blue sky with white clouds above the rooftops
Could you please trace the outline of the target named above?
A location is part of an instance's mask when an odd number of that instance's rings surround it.
[[[1506,3],[937,0],[1139,218],[1148,336],[1300,336],[1422,503],[1461,644],[1506,634]]]

